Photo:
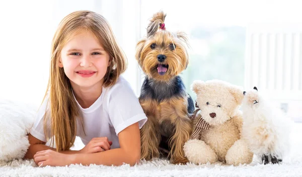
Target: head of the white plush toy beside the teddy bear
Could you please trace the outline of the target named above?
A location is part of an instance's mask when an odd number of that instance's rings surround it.
[[[256,110],[261,104],[262,104],[262,98],[258,94],[257,87],[254,87],[254,89],[243,92],[244,99],[242,104],[243,111],[248,110]]]

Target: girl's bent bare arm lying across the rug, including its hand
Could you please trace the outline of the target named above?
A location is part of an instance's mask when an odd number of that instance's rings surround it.
[[[65,166],[69,164],[134,165],[140,159],[140,132],[138,123],[132,124],[118,134],[120,148],[89,154],[62,154],[51,150],[34,155],[39,166]]]

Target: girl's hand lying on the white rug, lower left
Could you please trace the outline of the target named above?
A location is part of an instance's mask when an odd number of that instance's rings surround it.
[[[39,151],[34,155],[38,166],[65,166],[72,163],[73,154],[62,154],[53,150]]]

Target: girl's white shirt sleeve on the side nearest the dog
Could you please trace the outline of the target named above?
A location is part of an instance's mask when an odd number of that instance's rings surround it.
[[[115,129],[116,135],[137,122],[139,129],[141,129],[147,121],[147,117],[130,84],[122,79],[112,87],[109,94],[109,119]]]

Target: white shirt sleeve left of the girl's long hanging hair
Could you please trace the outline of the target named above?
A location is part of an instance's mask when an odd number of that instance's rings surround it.
[[[45,133],[44,133],[44,120],[45,120],[45,112],[48,108],[48,98],[46,97],[42,103],[42,105],[40,106],[39,110],[38,110],[38,113],[36,114],[36,119],[35,119],[35,122],[33,124],[33,127],[30,129],[30,134],[43,141],[43,142],[47,142],[46,140],[46,136],[45,136]],[[46,128],[47,128],[47,134],[48,134],[48,137],[50,136],[50,122],[47,121],[47,125],[46,125]],[[50,137],[49,137],[50,138]]]

